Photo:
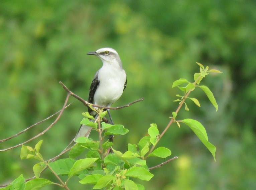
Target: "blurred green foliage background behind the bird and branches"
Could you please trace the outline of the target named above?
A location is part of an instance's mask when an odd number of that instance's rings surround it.
[[[176,119],[200,121],[209,141],[217,148],[216,163],[195,134],[185,125],[172,125],[159,146],[178,159],[154,169],[149,182],[137,181],[149,190],[256,189],[256,2],[211,1],[82,1],[2,0],[0,2],[0,139],[47,118],[62,108],[66,91],[58,83],[87,100],[99,58],[86,55],[102,47],[117,50],[127,73],[127,87],[118,102],[122,106],[144,97],[128,108],[112,111],[116,124],[130,132],[116,136],[114,148],[126,151],[138,143],[151,123],[161,132],[177,108],[179,78],[193,81],[197,62],[219,69],[202,85],[212,90],[215,108],[201,89],[191,93],[201,108],[187,100]],[[59,154],[74,138],[85,108],[75,98],[60,120],[41,139],[44,159]],[[8,148],[30,139],[55,118],[17,138],[0,143]],[[97,137],[92,134],[92,137]],[[62,158],[67,158],[63,155]],[[34,160],[20,160],[20,147],[0,152],[0,184],[23,174],[33,176]],[[166,159],[149,158],[149,167]],[[50,172],[43,178],[56,181]],[[84,189],[78,178],[70,189]],[[90,187],[88,187],[90,188]],[[43,189],[60,189],[47,186]]]

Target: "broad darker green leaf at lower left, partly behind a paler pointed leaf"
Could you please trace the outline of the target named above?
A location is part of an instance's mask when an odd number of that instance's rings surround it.
[[[49,165],[57,175],[68,175],[76,161],[75,159],[64,158],[51,162]]]

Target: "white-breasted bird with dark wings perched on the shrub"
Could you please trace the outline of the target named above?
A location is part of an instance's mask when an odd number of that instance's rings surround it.
[[[96,72],[89,90],[88,102],[103,107],[111,107],[122,95],[126,88],[126,72],[123,69],[121,59],[116,50],[105,47],[97,51],[89,52],[87,55],[98,56],[103,65]],[[113,125],[109,110],[108,114]],[[88,112],[97,118],[97,113],[88,107]],[[91,120],[92,121],[92,120]],[[79,137],[89,137],[91,127],[81,125],[74,140]]]

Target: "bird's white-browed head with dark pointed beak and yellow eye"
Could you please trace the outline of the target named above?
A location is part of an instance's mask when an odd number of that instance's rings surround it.
[[[116,50],[110,48],[110,47],[104,47],[101,49],[98,49],[97,51],[89,52],[87,55],[97,55],[103,63],[108,62],[118,62],[121,63],[120,57]]]

